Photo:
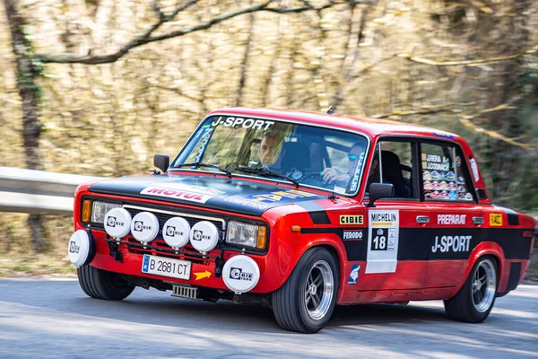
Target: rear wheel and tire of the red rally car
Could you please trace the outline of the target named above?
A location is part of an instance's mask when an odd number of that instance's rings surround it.
[[[482,285],[478,286],[477,280],[481,278],[484,278]],[[498,283],[495,259],[490,256],[478,259],[464,286],[454,297],[445,301],[447,317],[468,323],[482,322],[493,308]]]

